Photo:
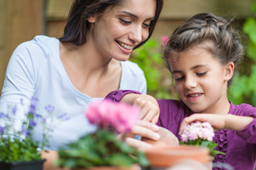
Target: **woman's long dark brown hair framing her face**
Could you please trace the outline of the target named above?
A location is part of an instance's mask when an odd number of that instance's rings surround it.
[[[64,29],[64,35],[59,41],[70,42],[81,46],[87,41],[87,32],[89,30],[89,22],[87,18],[92,15],[102,15],[109,6],[114,7],[120,5],[124,0],[75,0],[69,11],[69,18]],[[128,1],[128,0],[126,0]],[[148,38],[151,37],[154,27],[157,24],[160,12],[163,8],[163,0],[156,0],[157,9],[154,20],[151,21]],[[142,46],[148,41],[148,38],[135,48]]]

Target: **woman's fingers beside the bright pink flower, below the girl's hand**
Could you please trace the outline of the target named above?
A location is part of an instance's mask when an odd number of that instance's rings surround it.
[[[133,129],[129,133],[120,133],[117,135],[118,140],[125,141],[126,144],[137,149],[145,149],[147,147],[152,147],[151,144],[146,143],[145,141],[139,141],[135,139],[135,135],[141,135],[145,138],[150,138],[154,141],[157,141],[160,138],[160,135],[157,133],[159,127],[154,123],[149,123],[145,120],[139,120],[138,123],[133,126]]]

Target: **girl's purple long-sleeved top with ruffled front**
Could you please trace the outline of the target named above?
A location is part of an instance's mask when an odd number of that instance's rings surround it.
[[[117,93],[116,93],[117,92]],[[125,93],[137,93],[133,90],[125,90]],[[114,95],[115,94],[115,95]],[[106,97],[114,101],[120,101],[124,96],[123,90],[116,90]],[[178,129],[184,119],[190,114],[194,114],[184,102],[177,100],[158,100],[160,107],[160,117],[157,122],[158,126],[163,126],[173,132],[178,138]],[[229,114],[238,116],[256,117],[256,108],[251,105],[241,104],[233,105],[230,102]],[[221,129],[215,132],[213,140],[218,143],[215,150],[222,151],[226,155],[215,155],[212,162],[224,162],[231,165],[235,170],[246,169],[254,170],[256,161],[256,119],[248,124],[239,132],[230,129]],[[218,165],[216,169],[225,169]]]

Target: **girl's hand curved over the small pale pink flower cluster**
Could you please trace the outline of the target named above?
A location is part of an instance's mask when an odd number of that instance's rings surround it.
[[[178,131],[178,135],[181,135],[184,126],[187,126],[189,123],[193,123],[196,121],[200,122],[208,122],[212,125],[214,131],[218,131],[219,129],[226,129],[227,114],[192,114],[189,117],[185,117],[181,123],[180,129]]]

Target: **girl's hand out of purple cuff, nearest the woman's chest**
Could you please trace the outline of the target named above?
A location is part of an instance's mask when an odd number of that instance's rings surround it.
[[[139,95],[139,94],[126,94],[120,102],[130,103],[131,105],[139,106],[142,108],[141,118],[148,122],[156,124],[160,115],[160,108],[157,100],[149,95]]]

